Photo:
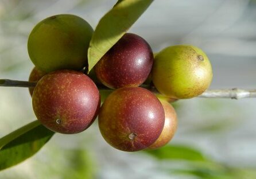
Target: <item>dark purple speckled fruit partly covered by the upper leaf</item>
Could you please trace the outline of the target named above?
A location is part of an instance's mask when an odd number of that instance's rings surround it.
[[[149,76],[153,53],[148,42],[126,33],[95,65],[98,79],[109,88],[137,87]]]

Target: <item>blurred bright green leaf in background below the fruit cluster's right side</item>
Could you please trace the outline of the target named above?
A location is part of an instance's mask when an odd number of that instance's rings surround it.
[[[158,159],[182,159],[188,161],[205,161],[200,151],[187,146],[166,145],[157,150],[145,150],[146,153]]]

